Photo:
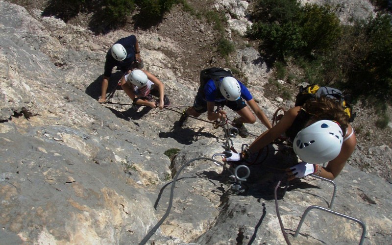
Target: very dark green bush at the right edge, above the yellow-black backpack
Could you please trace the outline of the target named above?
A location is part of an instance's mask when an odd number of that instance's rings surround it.
[[[359,48],[353,50],[357,59],[351,59],[345,71],[345,87],[355,98],[366,98],[374,103],[391,103],[392,98],[392,17],[378,14],[366,23],[353,28],[362,37],[353,41]],[[352,40],[357,39],[356,36]],[[361,53],[357,53],[361,51]]]

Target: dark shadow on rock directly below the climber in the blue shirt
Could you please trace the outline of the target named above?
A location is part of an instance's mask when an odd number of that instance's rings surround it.
[[[204,127],[200,127],[198,130],[192,128],[176,127],[175,129],[173,128],[171,131],[168,132],[160,132],[159,138],[172,138],[180,144],[191,145],[193,142],[196,142],[200,137],[216,137],[211,133],[203,132],[203,130]]]

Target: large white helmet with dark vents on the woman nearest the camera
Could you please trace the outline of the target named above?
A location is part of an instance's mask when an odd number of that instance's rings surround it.
[[[320,120],[297,133],[294,152],[304,162],[319,164],[335,159],[342,148],[343,132],[334,121]]]

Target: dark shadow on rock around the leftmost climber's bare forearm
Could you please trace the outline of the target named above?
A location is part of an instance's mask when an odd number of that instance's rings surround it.
[[[122,90],[121,86],[118,85],[118,82],[122,77],[123,73],[120,71],[113,73],[110,76],[109,85],[106,91],[106,99],[110,98],[110,95],[114,94],[117,90]],[[98,100],[99,96],[101,96],[102,78],[103,75],[98,76],[98,78],[95,79],[94,82],[90,83],[90,85],[86,88],[85,93],[91,98]]]

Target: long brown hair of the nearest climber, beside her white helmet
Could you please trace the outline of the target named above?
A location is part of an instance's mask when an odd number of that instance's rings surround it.
[[[346,133],[349,117],[344,112],[343,106],[339,101],[321,97],[307,101],[302,108],[312,115],[310,123],[320,120],[336,121],[340,124],[343,134]]]

